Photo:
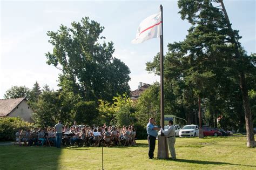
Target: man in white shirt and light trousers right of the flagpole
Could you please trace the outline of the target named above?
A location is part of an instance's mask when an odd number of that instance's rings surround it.
[[[170,153],[172,155],[172,159],[176,159],[176,152],[175,152],[175,148],[174,148],[174,144],[175,144],[175,141],[176,141],[175,127],[173,126],[173,121],[172,120],[169,120],[168,130],[167,131],[163,130],[162,132],[167,136],[168,146],[169,146]]]

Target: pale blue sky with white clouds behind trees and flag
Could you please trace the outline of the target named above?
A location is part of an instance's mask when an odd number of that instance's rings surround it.
[[[255,1],[224,0],[233,29],[240,30],[240,42],[248,54],[255,51]],[[0,98],[11,86],[29,88],[50,85],[57,90],[58,70],[47,65],[44,53],[51,51],[46,31],[60,24],[70,26],[89,16],[105,27],[103,36],[112,40],[120,58],[131,70],[131,90],[139,81],[153,83],[159,77],[145,71],[145,63],[159,51],[159,39],[131,44],[139,23],[164,8],[164,51],[167,43],[183,40],[190,24],[178,14],[177,1],[1,1]]]

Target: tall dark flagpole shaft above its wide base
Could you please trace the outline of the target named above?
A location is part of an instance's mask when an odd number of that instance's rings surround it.
[[[160,111],[161,111],[161,128],[164,129],[164,31],[163,31],[163,6],[160,5],[161,12],[161,35],[160,35]]]

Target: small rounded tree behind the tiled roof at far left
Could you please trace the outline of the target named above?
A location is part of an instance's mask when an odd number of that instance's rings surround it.
[[[30,89],[26,86],[12,86],[4,94],[5,99],[26,98],[30,99]]]

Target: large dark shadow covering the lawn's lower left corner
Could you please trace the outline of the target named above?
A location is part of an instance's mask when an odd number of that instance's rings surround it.
[[[58,169],[61,152],[53,146],[0,146],[0,169]]]

